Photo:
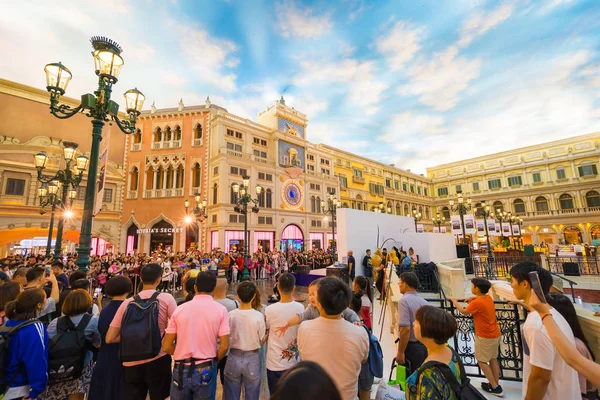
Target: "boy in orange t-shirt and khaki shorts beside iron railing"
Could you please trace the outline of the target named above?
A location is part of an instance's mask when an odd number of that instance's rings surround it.
[[[469,304],[463,308],[456,299],[451,299],[461,314],[472,315],[475,326],[475,358],[479,368],[488,379],[481,388],[494,396],[502,397],[500,386],[500,365],[498,364],[498,347],[502,332],[496,320],[494,299],[488,296],[492,284],[487,279],[474,278],[471,280],[473,297],[467,299]]]

